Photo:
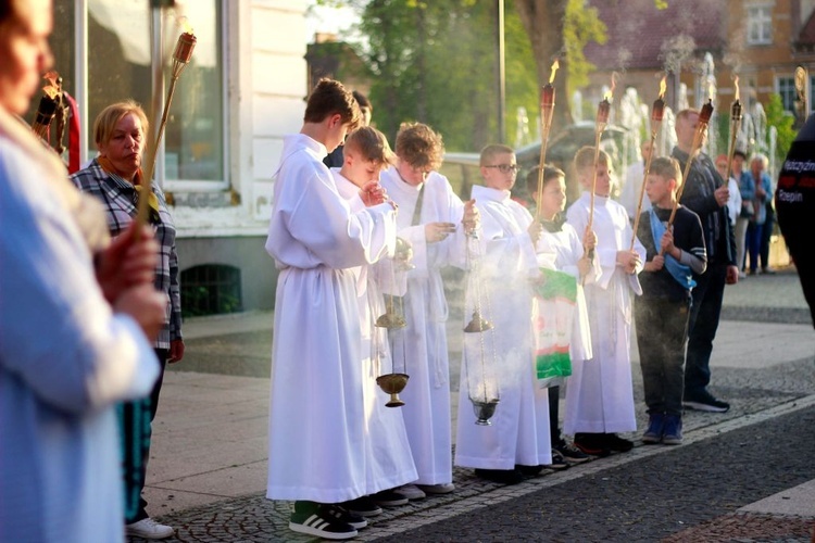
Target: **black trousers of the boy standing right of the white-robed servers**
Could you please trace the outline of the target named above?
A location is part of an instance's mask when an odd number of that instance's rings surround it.
[[[650,415],[682,414],[690,305],[690,299],[672,301],[638,296],[635,300],[637,346]]]

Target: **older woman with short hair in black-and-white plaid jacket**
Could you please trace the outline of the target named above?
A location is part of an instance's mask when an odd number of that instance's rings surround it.
[[[128,100],[109,105],[93,123],[99,155],[88,167],[71,176],[79,190],[95,197],[102,204],[108,229],[113,237],[127,231],[135,222],[138,199],[143,197],[141,159],[147,134],[147,115],[136,102]],[[121,411],[124,438],[124,517],[128,535],[165,539],[173,535],[173,527],[150,518],[142,492],[150,457],[151,425],[159,407],[164,366],[184,357],[184,340],[175,224],[163,192],[155,184],[151,188],[150,224],[161,247],[155,267],[155,289],[165,294],[167,307],[164,326],[154,344],[155,356],[159,358],[159,380],[149,397],[125,403]]]

